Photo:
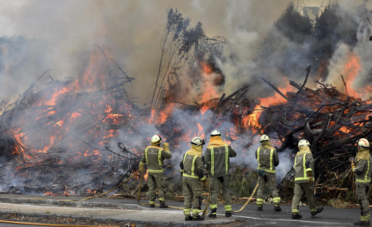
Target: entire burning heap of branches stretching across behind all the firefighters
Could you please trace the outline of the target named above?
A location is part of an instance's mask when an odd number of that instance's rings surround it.
[[[289,149],[289,156],[297,151],[300,139],[307,139],[312,144],[319,189],[337,187],[344,191],[342,187],[352,187],[340,180],[350,177],[348,158],[355,155],[355,142],[362,137],[372,139],[372,101],[348,96],[346,84],[345,93],[320,82],[315,90],[307,88],[310,67],[306,71],[302,85],[289,81],[297,92],[286,95],[262,78],[285,100],[279,104],[263,106],[245,98],[249,90],[245,86],[228,96],[194,105],[166,103],[172,106],[172,114],[139,108],[128,99],[123,84],[134,78],[121,69],[120,77],[111,77],[110,86],[92,92],[76,92],[75,80],[62,83],[52,79],[37,92],[34,83],[0,116],[0,180],[1,185],[7,185],[0,190],[52,195],[100,193],[137,170],[154,130],[167,139],[177,157],[189,149],[193,136],[207,137],[213,128],[223,127],[226,141],[242,155],[254,152],[251,147],[262,133],[273,138],[279,152]],[[175,159],[168,163],[168,178],[178,173],[179,160]],[[335,177],[333,185],[329,185],[330,173]],[[288,172],[282,187],[291,177]]]

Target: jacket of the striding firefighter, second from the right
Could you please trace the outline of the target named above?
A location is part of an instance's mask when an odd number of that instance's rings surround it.
[[[299,147],[300,151],[297,152],[294,159],[294,181],[296,183],[307,183],[309,182],[308,171],[313,173],[314,177],[314,158],[310,151],[309,146]],[[314,177],[315,178],[315,177]]]

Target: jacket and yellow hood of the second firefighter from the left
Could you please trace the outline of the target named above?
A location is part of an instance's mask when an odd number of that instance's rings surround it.
[[[180,171],[183,177],[205,179],[204,162],[202,159],[202,147],[191,145],[191,150],[183,155],[182,161],[179,163]]]

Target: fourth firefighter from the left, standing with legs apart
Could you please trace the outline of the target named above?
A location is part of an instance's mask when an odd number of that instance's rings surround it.
[[[263,190],[266,183],[273,194],[274,210],[281,211],[280,197],[278,189],[276,188],[276,174],[275,167],[279,165],[278,152],[271,147],[270,138],[267,135],[262,135],[259,142],[261,146],[256,151],[256,159],[258,161],[258,191],[257,191],[257,210],[262,210],[263,204]]]

